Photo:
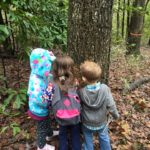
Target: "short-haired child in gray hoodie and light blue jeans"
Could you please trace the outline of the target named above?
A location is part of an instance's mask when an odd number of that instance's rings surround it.
[[[100,150],[111,150],[107,128],[108,114],[114,119],[119,118],[111,91],[106,84],[98,82],[101,68],[92,61],[80,65],[82,80],[86,86],[79,90],[81,99],[82,131],[84,150],[93,150],[93,133],[97,132]]]

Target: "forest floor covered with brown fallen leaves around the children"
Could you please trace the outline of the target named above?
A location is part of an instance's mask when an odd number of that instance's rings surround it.
[[[110,65],[109,86],[121,115],[120,120],[110,123],[110,137],[113,150],[150,150],[150,82],[124,93],[130,83],[150,77],[150,48],[141,48],[142,57],[128,57],[125,59],[122,48],[115,48],[112,52]],[[7,81],[10,87],[18,88],[20,83],[27,84],[29,64],[5,60]],[[19,68],[18,68],[19,66]],[[0,67],[2,71],[2,66]],[[19,74],[18,70],[19,69]],[[0,95],[0,105],[5,95]],[[0,111],[0,150],[36,150],[35,122],[26,114],[27,105],[22,107],[17,116],[4,115]],[[6,109],[13,110],[11,105]],[[52,118],[53,119],[53,118]],[[17,123],[17,125],[13,123]],[[55,121],[52,121],[56,129]],[[20,129],[19,134],[13,136]],[[18,129],[18,128],[19,129]],[[15,134],[15,133],[14,133]],[[58,139],[50,144],[58,147]],[[95,150],[98,150],[98,139],[94,137]]]

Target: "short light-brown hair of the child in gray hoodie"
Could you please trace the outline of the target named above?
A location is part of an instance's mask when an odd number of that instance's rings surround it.
[[[80,65],[81,75],[90,83],[100,79],[101,67],[93,61],[85,61]]]

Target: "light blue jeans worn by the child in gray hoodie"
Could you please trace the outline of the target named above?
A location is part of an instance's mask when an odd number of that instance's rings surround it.
[[[82,126],[84,136],[83,150],[94,150],[93,133],[95,132],[98,133],[100,150],[111,150],[108,129],[106,129],[105,132],[103,132],[103,130],[104,128],[100,130],[90,130],[83,125]]]

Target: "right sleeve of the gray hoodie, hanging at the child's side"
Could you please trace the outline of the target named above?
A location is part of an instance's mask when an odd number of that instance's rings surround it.
[[[119,118],[119,113],[109,87],[107,87],[107,109],[112,114],[114,119]]]

